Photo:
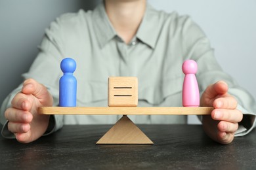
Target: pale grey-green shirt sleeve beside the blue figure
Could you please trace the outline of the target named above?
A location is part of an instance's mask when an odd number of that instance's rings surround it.
[[[65,58],[64,50],[62,49],[62,39],[60,37],[62,30],[60,29],[59,22],[60,20],[53,22],[51,27],[46,29],[41,46],[39,46],[39,54],[37,55],[37,58],[33,61],[28,73],[22,75],[24,80],[33,78],[37,80],[37,82],[46,86],[51,95],[53,95],[53,106],[58,105],[58,80],[62,75],[62,72],[60,71],[60,61],[62,58]],[[1,134],[5,138],[14,138],[14,134],[12,134],[7,127],[8,122],[5,119],[5,110],[11,107],[11,101],[14,95],[20,92],[21,89],[22,84],[13,90],[1,105],[0,122],[3,125]],[[49,127],[45,132],[45,135],[49,135],[54,131],[57,131],[62,126],[62,115],[51,116],[51,121],[49,122]]]

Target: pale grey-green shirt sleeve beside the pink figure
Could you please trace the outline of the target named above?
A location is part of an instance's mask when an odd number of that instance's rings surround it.
[[[242,88],[232,76],[223,71],[214,56],[214,50],[202,29],[192,22],[190,18],[184,22],[182,29],[183,48],[186,50],[185,59],[194,59],[198,63],[198,73],[196,74],[200,93],[219,80],[224,80],[228,84],[228,93],[233,95],[238,101],[237,109],[244,116],[239,123],[240,127],[236,136],[246,135],[255,127],[256,104],[255,99]]]

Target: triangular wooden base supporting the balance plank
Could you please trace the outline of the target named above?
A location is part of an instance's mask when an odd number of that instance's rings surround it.
[[[154,144],[127,116],[123,115],[96,144]]]

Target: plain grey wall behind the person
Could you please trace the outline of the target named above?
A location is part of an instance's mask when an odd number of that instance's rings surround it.
[[[209,37],[224,71],[256,97],[255,0],[148,0],[167,12],[188,14]],[[0,0],[0,103],[37,55],[44,30],[57,16],[93,9],[90,0]],[[190,117],[189,123],[198,123]]]

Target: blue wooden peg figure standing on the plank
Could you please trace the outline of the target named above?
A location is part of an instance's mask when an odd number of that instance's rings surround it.
[[[75,107],[77,93],[77,80],[73,75],[76,69],[75,60],[72,58],[63,59],[60,68],[64,75],[60,77],[59,106]]]

